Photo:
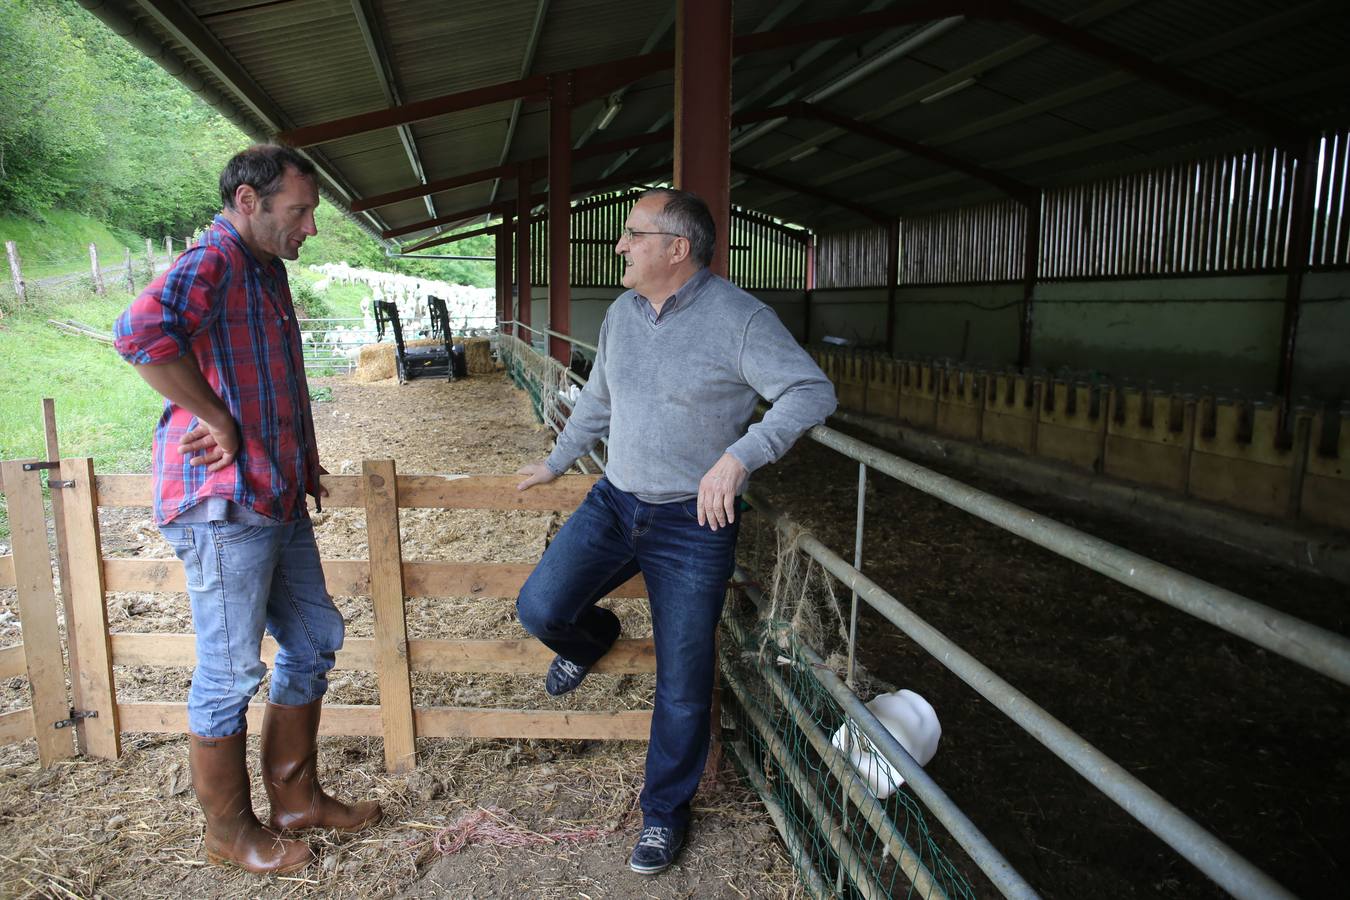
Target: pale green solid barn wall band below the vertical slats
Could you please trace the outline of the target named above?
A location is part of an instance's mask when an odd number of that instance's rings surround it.
[[[1273,387],[1284,316],[1282,274],[1037,285],[1033,364],[1050,371],[1208,386],[1246,393]],[[595,343],[605,310],[622,289],[572,287],[572,333]],[[1350,395],[1350,273],[1304,279],[1295,393]],[[756,291],[798,339],[799,291]],[[914,285],[896,290],[895,354],[991,368],[1017,363],[1022,286]],[[533,321],[548,321],[548,291],[535,289]],[[884,347],[886,290],[811,293],[811,343],[826,336]]]

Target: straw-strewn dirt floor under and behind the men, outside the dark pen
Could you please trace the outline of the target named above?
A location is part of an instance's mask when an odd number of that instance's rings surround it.
[[[551,445],[525,394],[501,374],[402,386],[329,378],[312,387],[321,461],[332,472],[359,472],[362,459],[392,457],[402,474],[504,474],[541,459]],[[404,556],[529,561],[558,521],[532,511],[402,510]],[[315,522],[324,557],[364,556],[362,510],[325,510]],[[171,556],[148,510],[103,510],[101,528],[105,556]],[[370,637],[370,602],[335,599],[348,636]],[[616,611],[628,636],[651,633],[643,603],[618,602]],[[190,630],[185,595],[112,594],[108,614],[115,631]],[[412,637],[524,637],[509,599],[410,598],[408,627]],[[20,640],[15,592],[0,591],[0,646]],[[123,700],[184,700],[189,677],[189,669],[116,668]],[[647,708],[651,690],[651,676],[594,675],[571,698],[555,700],[541,677],[413,676],[418,706]],[[328,699],[377,703],[375,676],[335,672]],[[20,706],[27,706],[27,680],[0,683],[0,710]],[[644,743],[424,738],[418,770],[390,776],[381,741],[324,738],[320,765],[329,785],[347,797],[379,799],[385,820],[362,835],[320,835],[319,862],[288,878],[205,865],[184,738],[126,734],[123,746],[116,762],[76,761],[50,770],[38,768],[31,741],[0,749],[0,896],[801,895],[767,814],[725,762],[695,800],[697,824],[679,866],[656,878],[629,872],[641,826]],[[256,773],[256,738],[250,756]],[[254,800],[266,810],[256,777]],[[448,853],[475,819],[487,827]]]

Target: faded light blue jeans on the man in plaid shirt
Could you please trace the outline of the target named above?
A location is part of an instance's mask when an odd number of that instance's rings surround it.
[[[248,702],[267,671],[265,626],[281,645],[271,702],[304,706],[321,698],[342,649],[343,619],[324,586],[310,521],[170,522],[159,530],[182,560],[197,631],[188,692],[193,734],[220,738],[246,727]]]

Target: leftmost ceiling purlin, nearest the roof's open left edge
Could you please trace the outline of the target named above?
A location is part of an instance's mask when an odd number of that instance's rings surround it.
[[[235,61],[234,55],[216,39],[216,36],[178,0],[134,0],[134,3],[147,16],[155,20],[180,45],[205,66],[216,78],[228,85],[254,116],[274,134],[292,127],[294,123],[250,76]],[[351,184],[343,178],[338,167],[317,150],[301,150],[319,167],[320,174],[328,186],[347,205],[351,204],[356,192]],[[367,223],[377,231],[387,228],[375,213],[364,213]]]

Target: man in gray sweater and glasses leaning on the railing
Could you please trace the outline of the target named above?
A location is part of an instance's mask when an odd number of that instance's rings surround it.
[[[597,600],[641,572],[656,645],[643,831],[629,866],[656,874],[684,842],[707,761],[714,633],[736,564],[736,498],[834,412],[834,389],[772,309],[707,270],[714,224],[687,192],[649,190],[616,252],[624,294],[605,314],[590,381],[548,459],[545,484],[602,437],[602,478],[521,588],[520,622],[558,656],[545,688],[575,690],[618,638]],[[772,403],[751,425],[763,397]]]

